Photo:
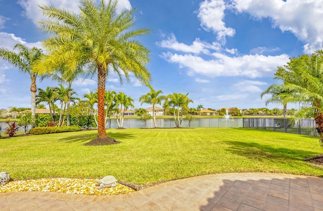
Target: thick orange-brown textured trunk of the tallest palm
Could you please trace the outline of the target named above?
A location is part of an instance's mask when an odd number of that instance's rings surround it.
[[[105,115],[104,115],[104,92],[105,92],[106,69],[98,65],[97,69],[97,137],[105,138]]]

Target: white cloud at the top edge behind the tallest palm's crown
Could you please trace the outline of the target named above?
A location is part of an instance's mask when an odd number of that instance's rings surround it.
[[[76,13],[80,11],[78,8],[78,5],[80,5],[79,0],[19,0],[18,4],[25,10],[25,16],[31,19],[36,25],[38,24],[38,21],[43,19],[41,9],[38,7],[38,5],[51,5],[54,7],[65,8],[66,10]],[[129,0],[120,0],[118,2],[119,13],[121,11],[130,9],[131,4]]]

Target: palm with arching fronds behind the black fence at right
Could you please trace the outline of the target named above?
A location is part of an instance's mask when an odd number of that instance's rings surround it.
[[[265,101],[265,104],[268,105],[269,103],[280,103],[283,105],[283,116],[284,119],[287,119],[287,103],[284,101],[285,99],[282,97],[282,94],[287,92],[286,88],[283,89],[283,84],[273,84],[269,86],[266,90],[264,90],[260,97],[261,99],[265,94],[270,94],[271,97]],[[285,93],[286,94],[286,93]],[[285,94],[283,96],[285,96]]]

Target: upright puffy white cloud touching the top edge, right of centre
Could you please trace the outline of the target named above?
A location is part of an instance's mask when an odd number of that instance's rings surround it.
[[[204,30],[212,30],[216,33],[217,39],[223,44],[226,42],[226,36],[234,36],[235,30],[226,27],[224,20],[224,11],[226,9],[223,0],[205,0],[200,4],[197,17],[201,21]]]

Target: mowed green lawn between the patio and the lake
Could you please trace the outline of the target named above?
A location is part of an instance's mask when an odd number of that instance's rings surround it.
[[[120,141],[85,146],[97,131],[0,139],[0,171],[13,179],[101,178],[151,184],[197,175],[275,172],[323,177],[302,161],[323,153],[318,137],[244,128],[107,130]]]

